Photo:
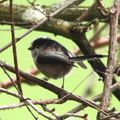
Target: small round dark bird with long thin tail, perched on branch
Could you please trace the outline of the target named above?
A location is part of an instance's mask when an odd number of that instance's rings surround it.
[[[86,68],[82,63],[83,60],[106,57],[105,55],[75,56],[64,46],[48,37],[35,39],[28,49],[31,51],[38,70],[46,77],[53,79],[64,78],[75,67],[75,62]]]

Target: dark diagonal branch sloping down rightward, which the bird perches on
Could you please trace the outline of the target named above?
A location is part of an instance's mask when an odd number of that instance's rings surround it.
[[[8,65],[8,64],[5,64],[5,63],[3,63],[2,61],[0,61],[0,66],[1,66],[1,65],[4,66],[7,70],[15,73],[14,67],[12,67],[12,66],[10,66],[10,65]],[[19,72],[20,72],[20,75],[21,75],[22,77],[24,77],[26,80],[29,80],[29,81],[37,84],[37,85],[40,85],[40,86],[44,87],[45,89],[50,90],[51,92],[55,93],[55,94],[58,95],[59,97],[64,97],[64,96],[66,96],[65,99],[64,99],[64,102],[65,102],[66,100],[74,100],[74,101],[77,101],[77,102],[81,102],[82,104],[88,105],[88,106],[90,106],[90,107],[93,107],[93,108],[97,109],[98,111],[101,111],[100,108],[99,108],[99,106],[98,106],[97,104],[95,104],[94,102],[92,102],[92,101],[89,101],[89,100],[87,100],[87,99],[85,99],[85,98],[83,98],[83,97],[80,97],[80,96],[73,95],[73,94],[71,94],[70,92],[68,92],[68,91],[66,91],[66,90],[63,90],[62,88],[59,88],[59,87],[57,87],[57,86],[54,86],[54,85],[52,85],[52,84],[50,84],[50,83],[48,83],[48,82],[46,82],[46,81],[44,81],[44,80],[38,79],[38,78],[36,78],[36,77],[28,74],[28,73],[22,72],[22,71],[20,71],[20,70],[19,70]],[[67,96],[67,95],[68,95],[68,96]],[[104,111],[101,111],[101,112],[102,112],[103,114],[105,114],[105,115],[108,115],[108,114],[107,114],[106,112],[104,112]]]

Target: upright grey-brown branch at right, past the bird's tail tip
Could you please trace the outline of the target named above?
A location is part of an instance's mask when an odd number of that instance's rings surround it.
[[[120,1],[115,0],[114,6],[110,14],[110,42],[109,42],[109,58],[106,76],[104,80],[103,97],[101,101],[101,109],[107,110],[110,101],[110,88],[116,67],[116,51],[117,51],[117,31],[118,17],[120,13]]]

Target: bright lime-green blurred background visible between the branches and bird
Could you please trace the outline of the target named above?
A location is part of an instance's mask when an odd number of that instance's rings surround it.
[[[62,0],[60,0],[62,1]],[[40,5],[51,5],[53,3],[60,2],[59,0],[38,0],[38,3]],[[83,5],[91,5],[94,0],[86,0]],[[111,1],[112,2],[112,1]],[[14,3],[17,4],[28,4],[27,1],[23,0],[14,0]],[[106,0],[105,2],[106,6],[110,5],[110,2]],[[16,37],[19,37],[22,35],[24,32],[26,32],[25,29],[15,27],[16,31]],[[90,32],[87,33],[88,39],[91,38],[93,35],[93,31],[91,30]],[[103,36],[108,35],[108,31],[103,31],[102,32]],[[65,40],[66,38],[63,38],[62,36],[54,36],[53,34],[50,33],[45,33],[45,32],[37,32],[33,31],[29,35],[27,35],[25,38],[23,38],[20,42],[17,43],[17,55],[18,55],[18,63],[19,63],[19,68],[23,71],[27,71],[30,68],[33,68],[34,63],[31,57],[30,52],[28,51],[28,47],[31,44],[31,42],[40,37],[40,36],[48,36],[54,40],[57,40],[59,43],[63,44],[67,49],[72,50],[73,48],[76,48],[77,46],[71,41],[71,40]],[[0,47],[4,46],[8,42],[11,41],[11,34],[10,34],[10,26],[3,26],[0,25]],[[65,41],[65,42],[64,42]],[[103,53],[107,54],[108,48],[104,47],[101,49],[97,49],[97,53]],[[13,57],[12,57],[12,49],[9,48],[5,50],[3,53],[0,54],[0,60],[3,60],[4,62],[13,65]],[[106,63],[106,59],[102,59],[104,63]],[[85,64],[87,65],[88,69],[82,69],[78,66],[78,68],[72,69],[72,71],[65,77],[65,89],[71,92],[82,80],[84,80],[83,83],[80,84],[80,86],[76,89],[74,94],[82,96],[85,91],[85,87],[90,83],[93,82],[93,89],[92,89],[92,94],[87,96],[88,99],[92,98],[92,96],[95,96],[99,93],[102,92],[103,89],[103,83],[102,81],[98,81],[99,76],[97,76],[96,73],[92,72],[92,69],[90,65],[85,61]],[[91,73],[92,72],[92,73]],[[11,76],[15,76],[10,73]],[[88,76],[89,75],[89,76]],[[88,76],[86,78],[86,76]],[[39,74],[37,77],[43,78],[43,75]],[[8,77],[4,74],[2,69],[0,69],[0,82],[7,81],[9,80]],[[50,83],[61,87],[62,80],[49,80]],[[46,99],[52,99],[52,98],[57,98],[57,96],[45,89],[43,89],[40,86],[34,85],[30,86],[25,83],[22,84],[22,89],[24,96],[33,100],[46,100]],[[9,88],[8,90],[15,91],[15,88]],[[6,95],[4,93],[0,94],[0,105],[9,105],[9,104],[15,104],[19,103],[19,100],[11,97],[9,95]],[[68,101],[64,104],[60,105],[48,105],[49,108],[55,108],[56,112],[58,114],[65,113],[68,110],[74,108],[77,106],[77,102],[73,101]],[[110,103],[110,107],[116,107],[117,110],[120,110],[120,104],[116,100],[114,96],[112,96],[112,101]],[[38,105],[37,106],[39,109],[41,107]],[[36,112],[33,111],[33,113],[39,118],[39,120],[45,120],[45,118],[41,117],[38,115]],[[90,120],[96,120],[96,113],[97,111],[92,108],[86,108],[85,110],[80,112],[80,115],[88,114],[88,118]],[[32,115],[28,112],[26,107],[22,108],[17,108],[13,110],[3,110],[0,111],[0,120],[34,120]],[[67,120],[78,120],[77,118],[68,118]],[[79,119],[80,120],[80,119]]]

